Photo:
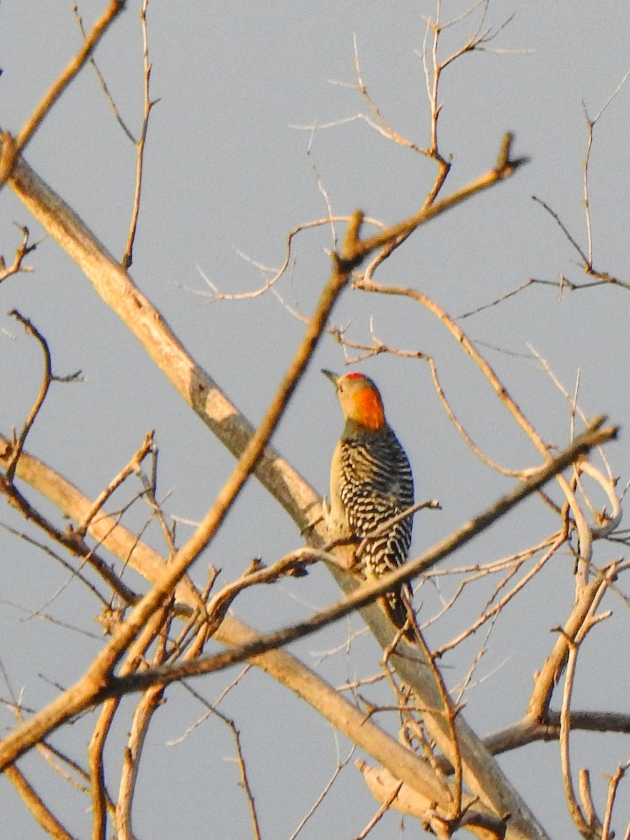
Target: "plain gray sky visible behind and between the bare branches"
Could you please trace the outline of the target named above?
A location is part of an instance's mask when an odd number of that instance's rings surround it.
[[[79,6],[86,24],[105,7],[95,0]],[[97,62],[123,118],[137,132],[142,108],[141,34],[138,4],[127,10],[97,50]],[[467,3],[444,2],[443,18],[459,16]],[[531,162],[496,189],[475,197],[420,228],[383,266],[378,279],[412,286],[433,297],[451,315],[492,302],[530,278],[587,279],[558,225],[532,201],[535,195],[559,213],[585,244],[583,160],[587,139],[585,108],[599,111],[628,70],[630,7],[598,4],[507,3],[491,0],[487,25],[496,29],[515,13],[489,45],[466,55],[444,74],[440,101],[440,150],[452,155],[445,192],[491,167],[507,130],[515,152]],[[360,207],[370,217],[393,223],[419,207],[433,181],[432,161],[392,144],[360,120],[315,133],[291,128],[323,125],[365,113],[355,83],[353,32],[362,71],[373,100],[389,123],[418,145],[428,144],[428,102],[422,60],[424,18],[433,3],[359,3],[324,0],[302,3],[152,3],[149,10],[152,112],[147,143],[143,203],[130,273],[164,314],[186,348],[256,422],[297,347],[303,326],[271,294],[244,302],[216,302],[200,271],[222,291],[243,292],[264,278],[239,252],[263,265],[284,258],[286,234],[299,223],[327,213],[318,182],[333,213]],[[444,34],[444,55],[461,45],[479,13]],[[71,3],[3,0],[0,5],[0,126],[17,132],[45,90],[80,45]],[[329,81],[344,83],[345,87]],[[630,167],[630,87],[611,103],[595,129],[591,161],[591,212],[596,267],[624,281]],[[310,148],[310,158],[307,150]],[[25,155],[53,188],[107,245],[123,252],[134,186],[134,149],[114,120],[87,67],[46,118]],[[0,194],[0,253],[9,261],[18,245],[13,222],[37,223],[8,189]],[[338,228],[341,230],[342,228]],[[306,314],[328,275],[330,232],[317,228],[297,239],[291,276],[277,291],[288,307]],[[155,429],[160,445],[159,490],[166,510],[197,521],[207,511],[232,465],[231,457],[181,403],[144,356],[139,344],[92,291],[80,270],[50,239],[29,257],[34,273],[12,277],[0,287],[0,312],[13,308],[45,334],[54,370],[81,370],[85,381],[55,384],[29,436],[28,449],[90,496],[127,462],[144,433]],[[201,295],[201,297],[200,297]],[[630,405],[627,370],[627,291],[598,287],[564,292],[531,286],[510,300],[461,322],[536,424],[543,438],[565,444],[570,436],[567,402],[533,357],[541,354],[572,392],[580,373],[580,405],[586,414],[607,413],[625,423]],[[538,463],[527,438],[507,417],[490,388],[444,328],[425,310],[399,299],[347,292],[333,322],[347,325],[348,339],[369,343],[370,318],[386,344],[430,354],[458,416],[492,458],[517,468]],[[39,389],[38,347],[7,315],[0,315],[0,431],[20,428]],[[313,364],[276,433],[274,443],[318,491],[328,487],[328,465],[341,428],[339,407],[319,368],[342,370],[344,354],[323,340]],[[413,550],[419,553],[512,486],[480,465],[450,425],[433,390],[428,366],[418,360],[380,356],[360,365],[381,385],[388,417],[405,444],[416,475],[418,498],[438,498],[442,512],[416,519]],[[609,449],[613,472],[628,479],[625,436]],[[123,492],[122,503],[128,498]],[[554,498],[559,498],[555,493]],[[39,504],[39,500],[35,500]],[[601,501],[603,505],[603,501]],[[42,504],[51,516],[53,512]],[[484,538],[449,560],[449,565],[487,562],[535,542],[557,525],[531,502]],[[128,522],[139,525],[141,506]],[[546,517],[546,518],[545,518]],[[3,506],[0,521],[21,528]],[[181,525],[183,539],[190,528]],[[38,536],[38,535],[35,535]],[[159,533],[150,541],[163,550]],[[252,482],[210,549],[193,570],[200,583],[207,564],[234,580],[255,556],[272,562],[301,538],[276,503]],[[49,603],[68,574],[42,552],[0,532],[7,585],[0,598],[3,667],[13,690],[24,690],[25,706],[39,708],[55,697],[53,682],[68,685],[81,675],[102,646],[92,621],[97,601],[76,582]],[[622,547],[623,548],[623,547]],[[596,563],[619,556],[619,546],[597,546]],[[525,711],[532,675],[549,653],[550,628],[564,620],[573,599],[573,561],[554,558],[501,617],[475,680],[466,694],[465,715],[480,734],[515,722]],[[139,585],[133,573],[130,585]],[[457,581],[441,580],[442,594]],[[623,586],[622,586],[623,588]],[[626,588],[627,591],[627,588]],[[491,587],[480,586],[429,633],[436,646],[470,623]],[[265,629],[284,625],[324,606],[339,591],[323,569],[303,580],[249,591],[234,606],[238,617]],[[421,616],[438,610],[438,591],[418,594]],[[612,599],[614,612],[594,632],[581,654],[575,706],[627,711],[627,609]],[[40,611],[40,612],[38,612]],[[425,612],[426,611],[426,612]],[[60,623],[50,623],[42,616]],[[351,625],[360,629],[359,618]],[[482,631],[482,633],[485,631]],[[351,653],[322,658],[343,643],[340,623],[296,646],[297,654],[333,684],[378,669],[378,651],[365,635]],[[458,685],[484,640],[477,636],[444,660],[449,685]],[[612,673],[611,673],[612,672]],[[194,684],[213,701],[236,672]],[[3,686],[0,696],[7,696]],[[376,688],[365,696],[387,696]],[[554,703],[557,708],[557,703]],[[250,782],[263,837],[290,837],[315,801],[336,763],[334,733],[309,708],[269,678],[250,672],[221,706],[243,734]],[[111,747],[110,785],[118,766],[132,705],[119,712]],[[155,717],[140,769],[134,811],[138,837],[250,837],[249,814],[239,789],[234,744],[216,717],[183,743],[181,737],[203,708],[180,687]],[[127,717],[125,717],[127,715]],[[382,724],[396,731],[396,721]],[[3,727],[13,725],[8,711]],[[93,717],[55,735],[53,743],[81,754]],[[602,774],[627,760],[627,738],[576,735],[575,768],[588,765],[601,806]],[[349,745],[339,741],[344,757]],[[76,836],[87,836],[87,799],[56,780],[40,759],[29,755],[24,769],[61,801],[59,816]],[[573,836],[561,788],[556,744],[537,745],[501,758],[501,766],[522,791],[554,837]],[[60,787],[61,785],[61,787]],[[287,795],[290,791],[290,795]],[[630,797],[625,793],[625,799]],[[38,838],[38,828],[6,780],[0,780],[3,822],[0,836]],[[167,803],[167,804],[165,804]],[[375,801],[350,763],[322,808],[300,837],[354,837],[370,819]],[[619,807],[630,817],[628,806]],[[398,836],[400,820],[387,815],[370,834]],[[404,837],[417,837],[406,821]],[[575,834],[575,832],[573,832]]]

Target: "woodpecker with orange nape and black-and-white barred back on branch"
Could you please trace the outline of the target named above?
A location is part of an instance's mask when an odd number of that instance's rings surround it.
[[[368,376],[343,376],[323,370],[337,388],[344,412],[344,431],[333,452],[328,527],[339,537],[368,538],[359,558],[367,580],[381,577],[407,559],[412,541],[412,516],[374,539],[370,534],[413,504],[413,476],[405,450],[385,418],[381,393]],[[386,611],[396,627],[407,622],[411,585],[387,593]],[[405,632],[413,638],[413,628]]]

